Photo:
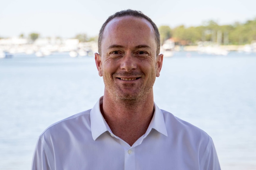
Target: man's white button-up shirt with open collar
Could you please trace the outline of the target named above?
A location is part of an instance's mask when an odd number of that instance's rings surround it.
[[[115,136],[100,102],[48,127],[37,141],[32,170],[219,170],[211,137],[160,110],[132,146]]]

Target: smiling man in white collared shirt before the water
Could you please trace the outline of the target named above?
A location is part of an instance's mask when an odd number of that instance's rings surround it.
[[[151,19],[133,10],[110,16],[98,51],[104,96],[40,135],[32,169],[220,169],[211,137],[154,103],[163,54]]]

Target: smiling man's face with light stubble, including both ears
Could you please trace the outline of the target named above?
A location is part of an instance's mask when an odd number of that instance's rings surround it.
[[[105,93],[122,100],[153,94],[163,58],[156,51],[154,28],[147,20],[132,16],[111,20],[103,33],[102,53],[95,54]]]

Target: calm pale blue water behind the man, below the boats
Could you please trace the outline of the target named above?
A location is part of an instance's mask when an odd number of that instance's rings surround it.
[[[0,169],[30,169],[42,131],[91,109],[103,89],[94,57],[0,59]],[[222,170],[256,169],[256,54],[175,53],[164,58],[154,95],[213,138]]]

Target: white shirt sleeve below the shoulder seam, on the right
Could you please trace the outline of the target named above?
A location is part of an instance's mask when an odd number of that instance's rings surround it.
[[[211,137],[201,159],[200,170],[220,170],[219,159]]]

